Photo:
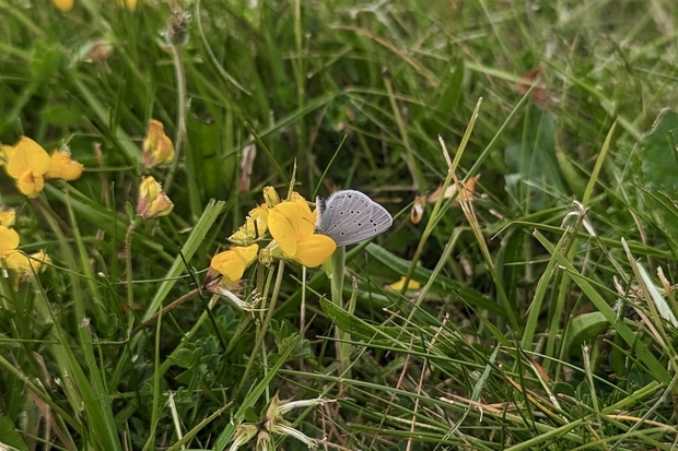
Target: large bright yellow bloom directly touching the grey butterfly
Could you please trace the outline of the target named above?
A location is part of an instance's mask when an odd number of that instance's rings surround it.
[[[268,228],[282,253],[307,268],[319,266],[337,249],[330,237],[315,233],[315,216],[299,194],[268,212]]]

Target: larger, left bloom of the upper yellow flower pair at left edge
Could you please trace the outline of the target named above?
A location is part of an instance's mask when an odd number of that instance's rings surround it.
[[[7,146],[4,153],[8,153]],[[30,198],[45,188],[45,174],[49,170],[50,159],[47,152],[35,141],[22,137],[12,151],[7,164],[7,173],[16,180],[19,191]]]

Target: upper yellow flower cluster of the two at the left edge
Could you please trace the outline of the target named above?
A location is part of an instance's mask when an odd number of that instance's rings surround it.
[[[42,145],[27,137],[22,137],[16,145],[2,146],[0,166],[16,180],[19,191],[33,199],[45,188],[45,180],[77,180],[83,170],[68,151],[55,150],[50,157]]]

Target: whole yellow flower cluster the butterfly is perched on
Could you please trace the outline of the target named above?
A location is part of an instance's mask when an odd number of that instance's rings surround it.
[[[328,236],[315,233],[316,212],[299,193],[280,201],[272,187],[264,188],[266,203],[249,212],[245,224],[229,237],[233,246],[212,258],[211,269],[233,285],[243,277],[245,270],[257,256],[262,263],[273,258],[292,260],[307,268],[323,264],[337,249]],[[268,233],[272,240],[259,252],[256,241]]]

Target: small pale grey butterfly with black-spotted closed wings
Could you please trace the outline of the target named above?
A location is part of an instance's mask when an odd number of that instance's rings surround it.
[[[316,232],[334,239],[337,246],[365,241],[393,225],[386,209],[360,191],[337,191],[327,200],[317,198],[316,204]]]

